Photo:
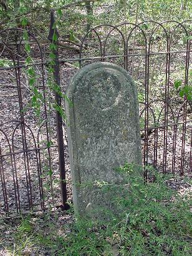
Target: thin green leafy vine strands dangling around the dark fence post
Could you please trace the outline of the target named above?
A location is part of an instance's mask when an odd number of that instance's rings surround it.
[[[62,11],[60,9],[57,10],[57,15],[61,16]],[[53,17],[53,13],[52,13]],[[46,199],[49,208],[51,205],[49,204],[49,191],[51,191],[52,195],[52,204],[54,206],[54,196],[53,196],[53,180],[52,180],[52,166],[51,166],[51,150],[53,142],[50,139],[52,135],[52,129],[50,127],[51,123],[51,115],[54,112],[59,113],[60,117],[65,120],[65,112],[61,105],[61,100],[66,99],[69,104],[71,104],[70,100],[62,93],[60,89],[59,77],[55,75],[55,70],[59,70],[59,57],[58,57],[58,33],[57,33],[57,22],[54,21],[54,17],[52,19],[52,24],[50,24],[50,34],[51,34],[51,41],[49,44],[49,61],[47,64],[47,83],[46,89],[44,91],[39,91],[37,86],[37,74],[36,69],[34,67],[34,61],[31,57],[31,46],[29,44],[29,33],[27,32],[27,19],[26,17],[21,19],[21,25],[24,27],[23,39],[24,39],[24,47],[26,51],[26,66],[28,67],[26,70],[27,80],[29,83],[29,90],[31,95],[31,102],[27,106],[27,109],[31,107],[34,110],[34,114],[37,117],[37,124],[39,126],[39,130],[41,132],[42,124],[45,122],[47,126],[47,139],[42,139],[43,135],[41,134],[41,143],[43,144],[43,173],[41,178],[44,177],[46,182],[44,186],[46,188]],[[45,109],[46,107],[46,109]],[[26,111],[27,109],[24,109]],[[47,118],[44,120],[44,114],[42,113],[42,109],[47,112]],[[47,148],[47,150],[45,149]],[[60,180],[61,181],[61,180]],[[57,182],[54,179],[54,182]],[[62,182],[64,182],[62,180]]]

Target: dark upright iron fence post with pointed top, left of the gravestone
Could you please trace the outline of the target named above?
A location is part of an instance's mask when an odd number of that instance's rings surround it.
[[[48,39],[53,42],[54,34],[57,35],[57,41],[59,38],[59,33],[57,28],[55,27],[55,19],[54,19],[54,11],[50,11],[50,29]],[[55,64],[54,68],[54,81],[60,87],[60,77],[59,77],[59,50],[57,41],[54,41],[54,44],[57,48],[53,51],[55,55]],[[55,92],[55,101],[59,106],[61,106],[61,97]],[[55,111],[56,113],[56,123],[57,123],[57,144],[58,144],[58,152],[59,152],[59,172],[60,172],[60,193],[61,193],[61,201],[62,201],[62,209],[69,209],[69,205],[67,202],[67,186],[65,180],[65,158],[64,158],[64,137],[63,137],[63,129],[62,129],[62,116],[60,116],[59,111]]]

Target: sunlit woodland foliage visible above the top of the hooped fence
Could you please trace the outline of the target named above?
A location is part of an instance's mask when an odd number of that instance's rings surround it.
[[[98,0],[92,5],[93,12],[87,9],[86,1],[6,0],[1,2],[6,2],[6,9],[3,4],[0,4],[0,26],[4,28],[17,26],[19,21],[26,19],[28,26],[47,32],[49,12],[54,8],[59,16],[59,28],[65,27],[65,33],[62,36],[67,36],[74,30],[75,33],[82,32],[82,29],[86,31],[87,22],[95,26],[100,23],[118,24],[125,20],[129,22],[165,21],[170,17],[176,21],[183,21],[190,19],[192,13],[192,3],[189,0],[144,0],[142,2]],[[62,10],[64,10],[63,15]],[[85,26],[82,26],[83,23]]]

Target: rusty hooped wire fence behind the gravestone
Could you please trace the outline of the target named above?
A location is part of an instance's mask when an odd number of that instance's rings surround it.
[[[50,28],[53,22],[52,14]],[[49,44],[41,44],[27,31],[32,59],[28,63],[25,33],[0,32],[2,215],[66,209],[72,197],[65,125],[51,108],[54,102],[59,106],[63,102],[49,89]],[[51,35],[50,29],[49,39]],[[85,64],[108,61],[123,66],[138,89],[143,165],[187,174],[192,169],[192,109],[186,90],[192,84],[190,39],[191,21],[103,24],[82,38],[78,54],[59,53],[57,47],[55,82],[65,92],[70,77]],[[36,73],[36,93],[42,95],[39,116],[31,103],[30,67]]]

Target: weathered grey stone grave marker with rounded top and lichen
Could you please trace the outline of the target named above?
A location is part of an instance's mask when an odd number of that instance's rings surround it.
[[[75,214],[107,219],[117,214],[113,197],[99,184],[123,184],[115,170],[125,162],[142,165],[137,89],[120,66],[89,64],[70,81],[65,101]],[[137,171],[137,170],[135,170]]]

